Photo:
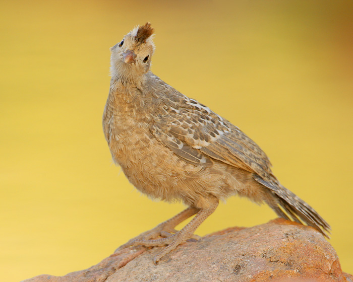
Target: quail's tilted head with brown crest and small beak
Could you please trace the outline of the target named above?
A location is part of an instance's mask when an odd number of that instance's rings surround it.
[[[112,77],[137,80],[148,72],[155,48],[152,34],[151,24],[146,23],[134,28],[122,41],[110,48]]]

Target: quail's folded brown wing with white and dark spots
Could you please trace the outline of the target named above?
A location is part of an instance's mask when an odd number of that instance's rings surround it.
[[[196,100],[183,97],[153,118],[152,134],[183,160],[210,165],[212,159],[255,172],[271,175],[266,154],[238,127]]]

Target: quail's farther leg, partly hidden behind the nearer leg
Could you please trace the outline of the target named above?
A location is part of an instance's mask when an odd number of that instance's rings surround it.
[[[148,230],[140,234],[139,236],[129,240],[129,242],[117,248],[115,252],[122,250],[124,248],[130,247],[132,245],[143,245],[143,244],[136,244],[137,241],[152,241],[148,239],[157,238],[158,236],[161,236],[161,237],[172,236],[173,233],[178,232],[177,230],[174,229],[175,226],[182,223],[186,219],[192,217],[193,215],[197,214],[199,210],[200,209],[197,207],[190,206],[187,209],[183,210],[183,212],[179,213],[178,215],[157,225],[155,228]],[[196,235],[193,238],[198,239]]]

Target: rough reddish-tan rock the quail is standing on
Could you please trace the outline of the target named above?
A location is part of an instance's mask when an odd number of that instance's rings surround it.
[[[117,251],[86,270],[25,282],[95,281],[347,281],[335,250],[311,227],[282,219],[251,228],[232,227],[187,242],[157,264],[160,247]]]

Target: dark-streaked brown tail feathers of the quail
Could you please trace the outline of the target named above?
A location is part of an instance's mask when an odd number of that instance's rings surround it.
[[[305,223],[330,238],[329,224],[309,204],[279,183],[265,181],[258,175],[255,176],[255,180],[269,189],[274,201],[266,202],[279,217],[301,224]]]

